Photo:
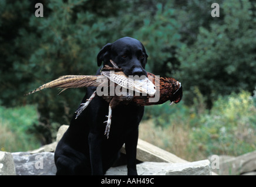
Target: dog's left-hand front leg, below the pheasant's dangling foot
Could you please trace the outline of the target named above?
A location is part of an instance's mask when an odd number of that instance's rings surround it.
[[[89,133],[89,147],[92,175],[103,175],[102,136],[99,133]]]

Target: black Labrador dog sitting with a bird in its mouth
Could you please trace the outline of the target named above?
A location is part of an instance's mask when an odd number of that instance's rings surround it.
[[[108,43],[97,55],[97,64],[110,64],[113,60],[124,74],[146,75],[144,70],[147,54],[140,41],[123,37]],[[97,71],[100,74],[100,69]],[[87,89],[85,98],[92,95],[95,87]],[[104,135],[109,104],[96,96],[82,114],[70,122],[70,126],[55,151],[56,175],[103,175],[114,161],[119,150],[125,144],[128,175],[137,175],[136,147],[138,127],[144,107],[119,105],[112,111],[112,124],[109,138]]]

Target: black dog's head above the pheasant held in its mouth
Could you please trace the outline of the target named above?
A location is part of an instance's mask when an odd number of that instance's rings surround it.
[[[123,37],[106,44],[97,55],[98,66],[111,65],[113,60],[119,68],[123,69],[124,74],[129,75],[147,75],[144,70],[147,63],[147,53],[143,44],[131,37]]]

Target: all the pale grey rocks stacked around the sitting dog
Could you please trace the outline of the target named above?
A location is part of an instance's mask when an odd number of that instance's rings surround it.
[[[0,175],[55,175],[54,151],[67,128],[61,126],[56,141],[37,150],[0,151]],[[143,140],[138,142],[137,153],[142,162],[137,164],[139,175],[256,175],[256,151],[240,157],[217,156],[218,165],[211,159],[188,162]],[[112,167],[106,175],[127,175],[126,165]]]

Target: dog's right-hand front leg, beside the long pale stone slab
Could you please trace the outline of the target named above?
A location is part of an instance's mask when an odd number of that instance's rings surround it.
[[[136,153],[138,143],[139,129],[135,129],[133,136],[129,137],[125,142],[125,150],[127,155],[127,175],[138,175],[136,168]]]

